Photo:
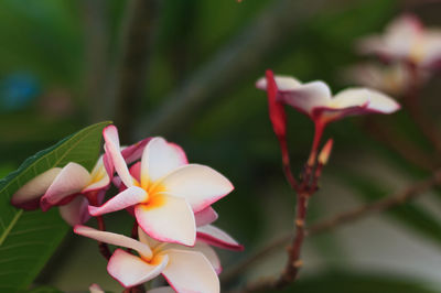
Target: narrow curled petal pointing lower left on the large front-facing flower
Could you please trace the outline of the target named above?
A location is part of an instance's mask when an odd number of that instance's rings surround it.
[[[131,186],[123,192],[117,194],[100,207],[89,206],[92,216],[99,216],[116,210],[121,210],[132,205],[142,203],[149,198],[144,189],[138,186]]]

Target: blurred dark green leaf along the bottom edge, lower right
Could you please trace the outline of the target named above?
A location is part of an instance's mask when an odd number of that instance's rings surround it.
[[[280,291],[279,291],[280,292]],[[408,278],[333,272],[299,280],[281,292],[304,293],[434,293]]]

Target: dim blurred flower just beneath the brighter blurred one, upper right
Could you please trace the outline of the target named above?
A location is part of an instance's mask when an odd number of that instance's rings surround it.
[[[426,79],[427,74],[421,77]],[[345,79],[349,82],[394,96],[406,94],[411,78],[402,63],[394,63],[390,66],[363,63],[349,67],[345,73]]]

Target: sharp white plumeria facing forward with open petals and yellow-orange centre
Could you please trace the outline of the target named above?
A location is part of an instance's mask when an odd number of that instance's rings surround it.
[[[230,193],[232,183],[208,166],[189,164],[184,151],[162,138],[148,142],[140,164],[133,165],[130,173],[120,152],[116,127],[107,127],[104,137],[106,152],[127,189],[100,207],[89,206],[90,215],[132,208],[138,225],[152,238],[193,246],[194,213]],[[136,172],[138,178],[132,175]]]

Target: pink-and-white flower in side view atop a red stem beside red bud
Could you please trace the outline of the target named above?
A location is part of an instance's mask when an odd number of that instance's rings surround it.
[[[375,89],[348,88],[333,96],[330,87],[321,80],[302,84],[288,76],[276,76],[275,80],[280,101],[323,126],[346,116],[391,113],[400,108],[394,99]],[[256,86],[267,89],[267,79],[260,78]]]

